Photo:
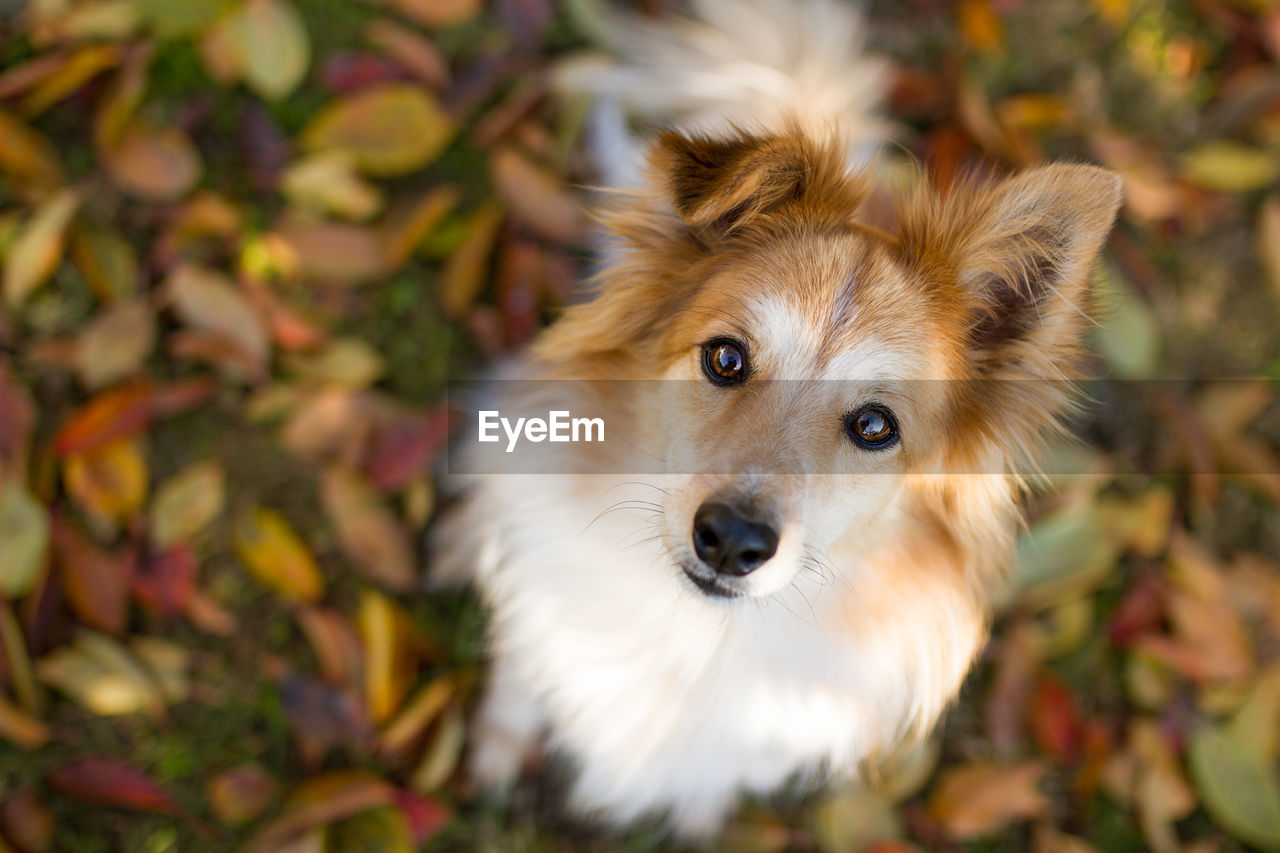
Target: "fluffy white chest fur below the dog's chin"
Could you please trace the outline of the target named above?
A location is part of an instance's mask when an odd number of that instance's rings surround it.
[[[495,657],[472,757],[483,781],[508,783],[550,733],[575,765],[576,809],[616,822],[668,812],[699,835],[740,793],[852,770],[914,716],[910,647],[859,648],[833,592],[846,578],[814,570],[768,601],[709,601],[644,542],[644,511],[593,524],[609,502],[548,488],[571,482],[494,478],[470,501],[490,539],[477,578]]]

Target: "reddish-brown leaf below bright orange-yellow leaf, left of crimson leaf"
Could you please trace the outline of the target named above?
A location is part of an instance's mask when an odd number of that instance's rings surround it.
[[[63,594],[76,617],[108,634],[123,634],[129,615],[129,580],[137,553],[125,546],[109,552],[65,516],[54,523],[54,546]]]

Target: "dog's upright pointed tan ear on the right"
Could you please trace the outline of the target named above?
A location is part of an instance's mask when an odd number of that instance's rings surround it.
[[[1030,169],[995,188],[957,190],[932,211],[908,210],[901,250],[941,264],[966,295],[979,371],[1018,361],[1051,375],[1079,345],[1089,269],[1120,199],[1120,177],[1106,169]]]

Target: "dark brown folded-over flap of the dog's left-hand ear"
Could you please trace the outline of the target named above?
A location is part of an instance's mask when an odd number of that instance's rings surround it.
[[[658,137],[653,161],[686,224],[723,231],[799,199],[812,172],[809,152],[790,137],[714,140],[668,131]]]

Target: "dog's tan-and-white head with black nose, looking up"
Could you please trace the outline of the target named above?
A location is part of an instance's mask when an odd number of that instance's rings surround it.
[[[1052,165],[919,188],[870,227],[867,175],[800,133],[667,133],[652,163],[653,195],[611,220],[622,263],[538,352],[682,380],[646,416],[686,471],[662,538],[689,581],[769,596],[832,548],[993,511],[946,475],[1004,471],[1055,423],[1119,179]]]

